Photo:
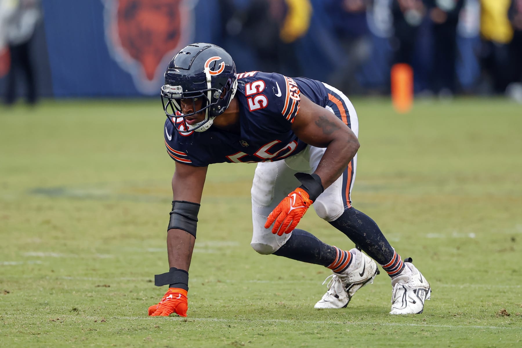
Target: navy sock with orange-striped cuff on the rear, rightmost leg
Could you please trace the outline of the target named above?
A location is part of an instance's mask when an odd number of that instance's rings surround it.
[[[350,207],[330,224],[346,234],[355,245],[383,266],[390,277],[397,275],[404,268],[400,256],[395,253],[379,226],[363,212]]]

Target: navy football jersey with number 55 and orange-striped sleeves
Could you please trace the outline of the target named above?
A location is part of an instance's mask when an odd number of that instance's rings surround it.
[[[241,134],[216,127],[181,134],[167,119],[167,151],[176,162],[194,166],[278,161],[299,153],[306,143],[295,136],[291,126],[299,113],[301,93],[322,107],[328,103],[327,89],[316,80],[260,71],[238,74],[235,98]],[[184,127],[182,118],[179,121],[176,127]]]

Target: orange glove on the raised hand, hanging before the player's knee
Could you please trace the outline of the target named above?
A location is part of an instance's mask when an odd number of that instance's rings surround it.
[[[275,221],[272,233],[282,236],[283,233],[292,232],[312,203],[305,190],[300,187],[296,188],[287,197],[284,197],[276,209],[268,215],[265,229],[268,229]]]

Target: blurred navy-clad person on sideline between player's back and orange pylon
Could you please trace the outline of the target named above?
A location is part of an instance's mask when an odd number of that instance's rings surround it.
[[[345,93],[361,92],[355,74],[371,53],[365,0],[324,0],[325,10],[343,51],[328,82]]]

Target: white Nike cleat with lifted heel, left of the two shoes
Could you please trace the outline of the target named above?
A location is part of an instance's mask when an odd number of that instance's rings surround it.
[[[330,279],[326,285],[328,291],[315,304],[314,308],[345,308],[355,292],[367,283],[373,283],[373,279],[379,274],[377,264],[370,257],[355,248],[351,249],[350,253],[354,257],[352,265],[345,272],[334,272],[325,279],[323,284]],[[356,265],[359,265],[359,267],[353,269]]]

